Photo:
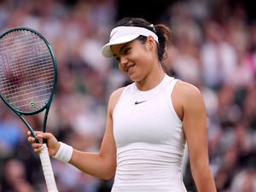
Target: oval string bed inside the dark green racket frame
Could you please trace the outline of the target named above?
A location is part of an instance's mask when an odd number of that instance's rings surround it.
[[[9,104],[22,112],[43,108],[55,82],[52,56],[44,40],[25,30],[6,34],[0,40],[0,64],[0,91]]]

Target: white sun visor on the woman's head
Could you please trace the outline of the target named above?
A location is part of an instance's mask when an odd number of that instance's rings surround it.
[[[110,38],[109,43],[105,44],[102,47],[102,55],[105,57],[112,57],[113,53],[110,49],[110,46],[113,44],[124,44],[127,42],[130,42],[136,38],[138,38],[140,35],[143,36],[152,36],[154,40],[158,43],[158,38],[154,32],[151,32],[150,30],[138,27],[138,26],[118,26],[113,28],[113,30],[110,32]]]

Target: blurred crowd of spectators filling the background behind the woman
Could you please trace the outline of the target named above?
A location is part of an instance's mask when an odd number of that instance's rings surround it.
[[[100,148],[108,96],[130,83],[113,59],[101,55],[119,17],[118,2],[0,0],[0,32],[31,27],[54,50],[58,83],[48,131],[80,150]],[[195,84],[205,99],[210,165],[218,192],[256,192],[256,19],[242,1],[185,0],[170,1],[154,22],[172,28],[173,44],[165,60],[169,73]],[[43,117],[26,119],[40,130]],[[26,131],[0,102],[0,192],[46,191],[40,160],[27,143]],[[111,189],[112,181],[51,162],[60,192]],[[185,162],[184,182],[189,191],[196,191],[189,161]]]

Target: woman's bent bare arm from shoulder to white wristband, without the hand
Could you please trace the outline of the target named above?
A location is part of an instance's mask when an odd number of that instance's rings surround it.
[[[116,146],[113,138],[113,108],[119,100],[122,89],[116,90],[110,96],[108,102],[108,115],[106,131],[102,140],[102,146],[98,154],[73,150],[70,164],[92,176],[102,179],[110,179],[116,169]]]

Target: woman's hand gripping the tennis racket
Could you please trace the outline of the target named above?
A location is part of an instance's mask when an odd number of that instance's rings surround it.
[[[27,141],[32,144],[32,148],[34,148],[34,151],[36,153],[40,153],[42,149],[42,141],[43,139],[47,140],[47,147],[48,147],[48,152],[50,156],[53,156],[57,153],[58,149],[60,148],[60,143],[57,141],[57,139],[51,134],[51,133],[44,133],[42,131],[35,131],[35,134],[38,137],[38,140],[40,143],[35,142],[35,138],[32,137],[32,134],[30,131],[27,131]]]

